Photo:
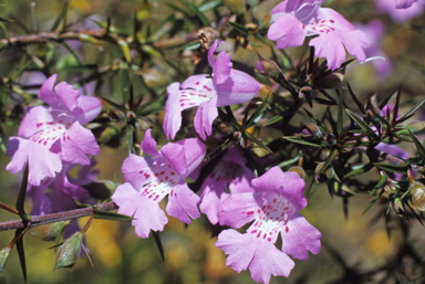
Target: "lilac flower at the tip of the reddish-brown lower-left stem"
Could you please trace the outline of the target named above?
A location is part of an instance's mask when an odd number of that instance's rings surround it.
[[[151,129],[145,134],[142,149],[154,157],[131,154],[122,170],[124,185],[116,188],[112,200],[120,207],[118,213],[134,217],[136,234],[147,238],[149,231],[162,231],[167,217],[159,201],[168,194],[167,212],[185,223],[199,218],[199,197],[187,186],[185,179],[199,166],[205,157],[205,146],[190,138],[163,146],[156,150]]]

